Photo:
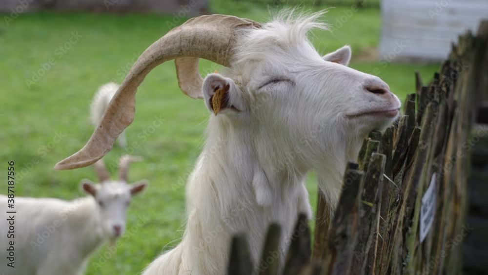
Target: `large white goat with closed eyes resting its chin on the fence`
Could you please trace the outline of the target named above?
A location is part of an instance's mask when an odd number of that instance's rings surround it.
[[[297,213],[311,216],[305,176],[315,170],[331,208],[348,160],[371,130],[399,115],[400,101],[376,76],[347,67],[350,47],[321,57],[307,39],[320,13],[282,14],[260,24],[201,16],[152,44],[134,64],[107,115],[79,152],[56,169],[100,159],[134,117],[135,93],[149,71],[175,59],[183,92],[202,98],[210,115],[206,143],[188,179],[182,242],[144,275],[223,275],[231,235],[245,232],[254,262],[271,222],[283,228],[279,255]],[[198,58],[229,68],[228,77],[198,73]],[[191,112],[191,110],[185,110]],[[123,124],[123,125],[122,125]]]

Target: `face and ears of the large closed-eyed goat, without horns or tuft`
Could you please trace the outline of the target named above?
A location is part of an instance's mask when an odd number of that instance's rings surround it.
[[[279,137],[277,148],[304,148],[309,152],[304,157],[320,163],[337,149],[357,154],[363,137],[399,115],[400,101],[385,82],[347,67],[349,46],[324,57],[308,43],[270,52],[261,60],[241,61],[232,71],[234,80],[208,75],[206,106],[215,111],[215,91],[224,89],[217,116]]]

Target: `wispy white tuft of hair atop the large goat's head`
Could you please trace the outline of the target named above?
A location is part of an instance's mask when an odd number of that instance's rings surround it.
[[[262,28],[245,33],[243,43],[237,48],[236,64],[268,60],[269,51],[266,49],[270,47],[286,50],[309,44],[312,30],[328,30],[328,25],[320,21],[325,13],[327,10],[310,12],[288,8],[272,15],[272,19]]]

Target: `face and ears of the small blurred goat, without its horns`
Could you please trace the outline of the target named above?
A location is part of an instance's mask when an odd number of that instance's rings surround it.
[[[94,184],[88,180],[81,182],[81,188],[92,195],[97,203],[104,236],[115,239],[124,233],[125,214],[132,196],[140,193],[146,186],[145,181],[133,184],[110,180],[102,184]]]

